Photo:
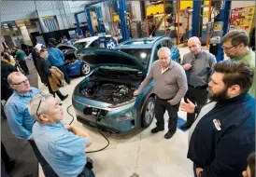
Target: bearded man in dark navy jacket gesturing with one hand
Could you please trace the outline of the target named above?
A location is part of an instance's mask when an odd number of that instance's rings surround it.
[[[248,90],[253,70],[239,61],[214,66],[208,86],[210,100],[200,111],[188,100],[181,110],[199,115],[189,133],[195,176],[241,177],[247,157],[255,150],[255,99]]]

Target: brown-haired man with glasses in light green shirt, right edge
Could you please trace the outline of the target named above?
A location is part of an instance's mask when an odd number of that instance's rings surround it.
[[[225,34],[222,38],[222,48],[227,57],[232,61],[243,61],[255,72],[255,52],[249,48],[249,35],[242,30],[234,30]],[[254,79],[255,80],[255,79]],[[252,83],[249,93],[255,98],[255,81]]]

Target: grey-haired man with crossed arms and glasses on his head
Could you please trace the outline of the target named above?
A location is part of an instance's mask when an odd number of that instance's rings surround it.
[[[36,119],[32,129],[36,146],[52,169],[61,177],[94,177],[85,154],[91,140],[84,130],[62,122],[63,108],[56,99],[38,95],[29,112]]]

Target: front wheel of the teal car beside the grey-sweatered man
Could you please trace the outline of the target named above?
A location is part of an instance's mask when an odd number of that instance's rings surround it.
[[[148,128],[154,116],[155,116],[155,99],[153,97],[149,97],[143,109],[141,127]]]

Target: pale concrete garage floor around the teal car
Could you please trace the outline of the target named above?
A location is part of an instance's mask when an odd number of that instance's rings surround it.
[[[181,57],[189,52],[188,48],[179,48]],[[71,97],[75,86],[83,77],[73,78],[71,85],[65,85],[61,91],[68,93],[69,97],[63,102],[64,110],[71,104]],[[38,80],[40,82],[40,80]],[[38,84],[38,88],[44,92],[48,89]],[[70,113],[75,116],[73,107]],[[179,111],[178,116],[186,120],[186,114]],[[97,177],[192,177],[192,162],[187,159],[188,131],[177,130],[170,140],[164,139],[167,131],[167,112],[164,115],[165,130],[157,134],[151,134],[150,130],[155,127],[154,119],[148,129],[137,130],[126,136],[105,133],[110,142],[106,150],[87,154],[94,161],[93,171]],[[64,111],[64,122],[70,123],[72,117]],[[107,141],[97,131],[83,126],[75,118],[73,124],[86,129],[92,137],[92,145],[87,149],[97,150],[104,147]],[[137,175],[135,175],[137,174]],[[39,169],[39,177],[43,177]]]

